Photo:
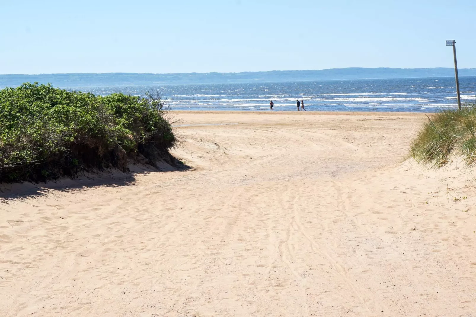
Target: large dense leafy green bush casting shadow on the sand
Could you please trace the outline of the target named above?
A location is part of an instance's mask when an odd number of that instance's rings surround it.
[[[158,94],[106,97],[25,83],[0,90],[0,182],[127,170],[129,160],[173,164],[176,142]]]

